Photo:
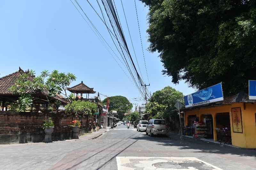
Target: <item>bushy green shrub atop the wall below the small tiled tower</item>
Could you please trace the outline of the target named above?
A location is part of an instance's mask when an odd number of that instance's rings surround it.
[[[83,113],[84,115],[92,115],[96,112],[97,105],[89,101],[74,100],[71,105],[65,106],[66,113]]]

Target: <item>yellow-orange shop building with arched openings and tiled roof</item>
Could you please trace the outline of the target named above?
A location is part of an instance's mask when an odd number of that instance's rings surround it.
[[[218,141],[217,131],[223,126],[231,131],[232,145],[242,148],[256,148],[256,100],[249,100],[248,94],[240,92],[219,102],[182,109],[185,125],[192,126],[201,121],[211,129],[208,137]]]

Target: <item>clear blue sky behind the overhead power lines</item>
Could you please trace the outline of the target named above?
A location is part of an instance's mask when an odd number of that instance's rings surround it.
[[[78,0],[78,2],[110,47],[116,50],[106,26],[92,11],[87,1]],[[90,0],[90,2],[96,10],[99,10],[96,1]],[[138,69],[121,3],[119,0],[115,0],[115,3],[128,47]],[[170,85],[184,95],[195,92],[184,82],[174,85],[171,77],[162,75],[163,66],[158,53],[147,51],[148,8],[136,0],[148,71],[147,78],[134,1],[123,0],[123,4],[141,77],[145,83],[150,83],[148,90],[153,93]],[[23,70],[35,70],[37,75],[42,70],[71,72],[77,79],[70,86],[83,80],[86,85],[102,94],[122,95],[132,103],[145,103],[145,101],[132,100],[140,97],[138,89],[127,78],[70,0],[2,0],[0,23],[0,77],[18,70],[19,66]],[[103,100],[104,96],[100,98]]]

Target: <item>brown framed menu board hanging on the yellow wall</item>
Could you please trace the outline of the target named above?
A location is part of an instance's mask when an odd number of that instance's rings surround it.
[[[232,112],[233,132],[243,133],[241,107],[231,108],[231,112]]]

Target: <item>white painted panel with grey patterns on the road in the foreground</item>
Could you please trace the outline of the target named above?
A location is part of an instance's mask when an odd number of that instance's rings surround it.
[[[194,157],[116,157],[116,162],[118,170],[136,168],[143,170],[198,170],[197,168],[200,166],[211,167],[212,170],[223,170]]]

